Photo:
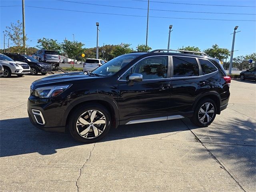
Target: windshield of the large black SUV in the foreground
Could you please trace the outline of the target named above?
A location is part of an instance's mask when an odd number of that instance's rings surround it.
[[[138,55],[121,55],[118,56],[108,62],[106,62],[104,65],[96,68],[92,71],[92,74],[98,74],[102,76],[110,76],[118,72],[120,69],[122,69],[124,66],[126,66],[128,63],[130,63],[132,60],[134,60]]]

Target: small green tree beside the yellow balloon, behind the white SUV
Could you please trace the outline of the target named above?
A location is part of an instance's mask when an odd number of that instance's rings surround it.
[[[84,49],[82,46],[81,42],[78,41],[69,41],[69,40],[64,40],[64,42],[61,44],[62,45],[62,50],[68,54],[69,58],[76,58],[76,56],[80,56],[83,52]]]

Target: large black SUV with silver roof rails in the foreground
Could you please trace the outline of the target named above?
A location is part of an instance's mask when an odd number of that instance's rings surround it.
[[[96,142],[110,127],[188,117],[208,126],[228,105],[230,77],[204,53],[134,52],[86,72],[32,83],[28,115],[36,127]],[[200,54],[200,55],[196,55]]]

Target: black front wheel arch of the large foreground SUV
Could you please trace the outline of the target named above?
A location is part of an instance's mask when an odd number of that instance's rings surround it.
[[[94,97],[94,99],[90,97],[77,100],[76,102],[70,104],[70,106],[66,109],[64,114],[64,117],[66,118],[63,118],[63,124],[66,126],[66,129],[72,112],[74,112],[78,107],[86,104],[100,104],[104,106],[110,112],[112,125],[117,128],[119,125],[119,113],[117,104],[113,100],[110,100],[106,97]]]

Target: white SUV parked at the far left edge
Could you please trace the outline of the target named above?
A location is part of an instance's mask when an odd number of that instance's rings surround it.
[[[24,62],[14,61],[10,57],[0,54],[0,64],[4,67],[4,76],[10,77],[12,74],[23,76],[30,74],[30,66]]]

